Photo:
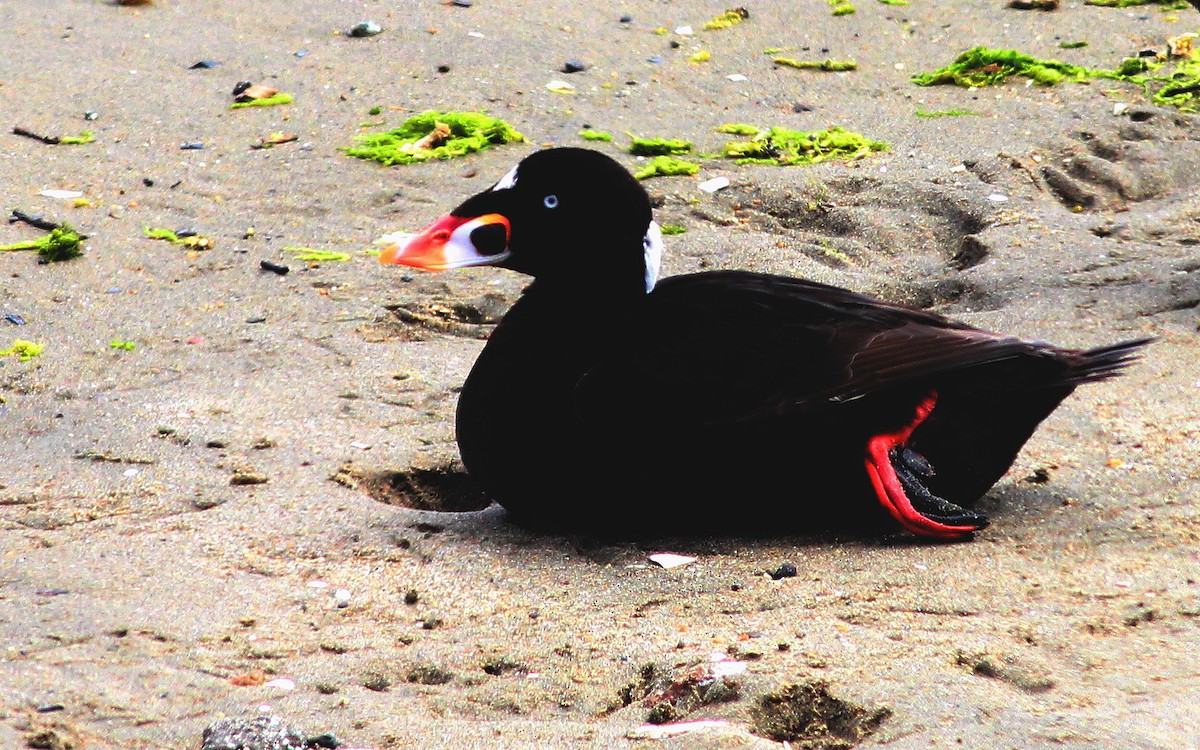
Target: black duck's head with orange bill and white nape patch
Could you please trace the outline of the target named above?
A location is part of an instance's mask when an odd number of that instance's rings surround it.
[[[588,149],[533,154],[408,242],[386,246],[385,264],[442,271],[497,265],[584,290],[649,292],[662,241],[642,186]]]

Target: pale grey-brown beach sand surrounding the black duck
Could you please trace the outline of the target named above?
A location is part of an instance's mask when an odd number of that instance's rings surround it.
[[[1111,67],[1200,16],[857,5],[760,2],[701,31],[724,5],[0,0],[5,206],[89,235],[67,263],[0,254],[0,313],[25,322],[0,320],[0,348],[46,346],[0,360],[0,746],[191,749],[217,719],[276,715],[356,748],[768,748],[756,707],[814,680],[846,712],[889,710],[860,746],[1200,746],[1200,119],[1112,82],[908,82],[976,44]],[[340,34],[367,18],[384,32]],[[768,47],[859,67],[775,68]],[[697,49],[712,59],[688,62]],[[587,70],[562,73],[569,59]],[[230,112],[239,80],[295,102]],[[428,108],[486,109],[530,143],[397,168],[338,151]],[[731,121],[840,125],[890,151],[648,181],[659,221],[689,229],[666,272],[803,275],[1064,346],[1159,341],[1044,424],[970,544],[613,544],[380,502],[440,502],[409,473],[455,458],[456,389],[524,280],[406,281],[371,241],[541,145],[582,145],[584,124],[635,168],[625,131],[710,152]],[[299,139],[250,148],[276,131]],[[38,235],[0,227],[0,244]],[[439,322],[456,306],[482,312]],[[697,559],[664,570],[662,551]],[[797,576],[766,575],[785,562]],[[714,654],[745,672],[677,718],[727,724],[631,738]],[[294,689],[235,684],[275,678]]]

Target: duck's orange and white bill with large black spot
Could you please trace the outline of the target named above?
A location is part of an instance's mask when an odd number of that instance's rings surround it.
[[[509,220],[499,214],[448,214],[407,242],[391,242],[379,263],[444,271],[468,265],[496,265],[509,257]]]

